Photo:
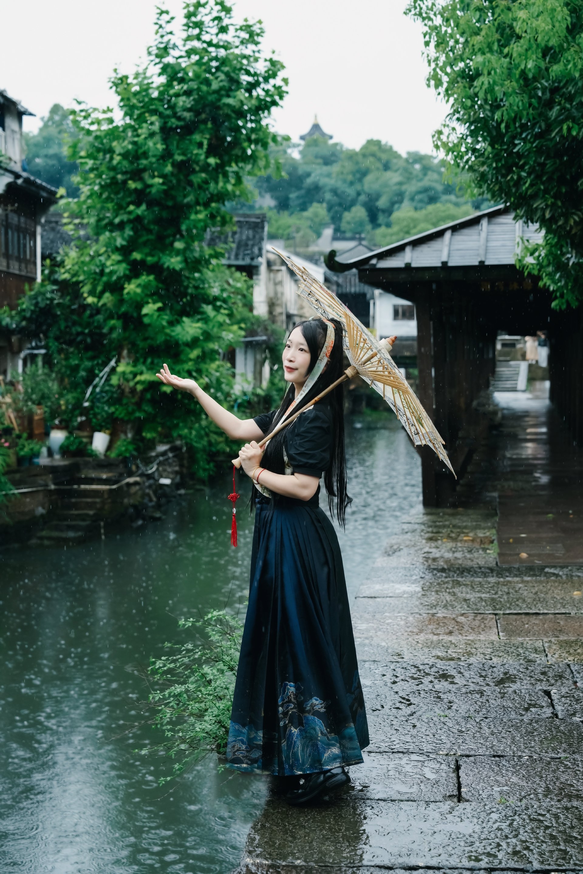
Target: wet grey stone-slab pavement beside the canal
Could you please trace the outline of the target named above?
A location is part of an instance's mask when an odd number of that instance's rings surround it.
[[[364,765],[316,808],[269,798],[241,874],[583,871],[583,567],[499,565],[496,523],[420,511],[386,543],[352,609]]]

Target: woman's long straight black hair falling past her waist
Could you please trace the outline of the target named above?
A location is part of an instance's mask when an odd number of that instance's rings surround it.
[[[341,323],[335,319],[330,319],[334,325],[334,346],[330,352],[328,364],[323,372],[316,379],[315,384],[309,392],[302,398],[299,406],[295,407],[294,413],[302,410],[305,406],[316,398],[316,395],[323,392],[325,388],[336,382],[344,372],[343,363],[343,329]],[[323,345],[326,341],[327,326],[322,319],[309,319],[306,322],[298,322],[294,325],[294,329],[299,328],[306,341],[309,350],[309,370],[308,373],[314,370],[316,361],[323,350]],[[283,396],[281,406],[275,413],[274,421],[267,431],[270,434],[282,416],[288,410],[288,406],[295,398],[295,385],[292,383],[288,387],[288,391]],[[344,385],[337,385],[333,392],[326,395],[326,398],[318,401],[320,404],[328,403],[332,412],[332,446],[331,446],[331,463],[330,467],[324,473],[324,486],[328,493],[328,503],[330,513],[336,513],[338,522],[343,526],[346,523],[346,508],[351,503],[346,491],[346,454],[344,451]],[[263,454],[262,464],[268,470],[275,474],[283,474],[285,472],[285,463],[283,461],[283,440],[286,429],[275,434],[273,440],[269,440],[265,453]],[[266,435],[267,436],[267,435]],[[254,504],[258,496],[257,489],[253,488],[252,503]],[[274,494],[274,502],[277,502],[278,496]],[[336,500],[335,500],[336,499]],[[336,506],[335,506],[336,504]]]

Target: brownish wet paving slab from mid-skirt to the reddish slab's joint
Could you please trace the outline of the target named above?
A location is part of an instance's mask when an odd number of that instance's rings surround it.
[[[468,637],[474,640],[497,640],[496,616],[493,614],[397,614],[392,599],[360,598],[352,611],[356,637],[387,640],[394,637]]]

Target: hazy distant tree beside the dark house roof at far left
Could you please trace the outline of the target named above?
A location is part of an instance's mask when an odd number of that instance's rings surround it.
[[[79,167],[76,161],[69,161],[66,153],[74,136],[71,113],[60,103],[54,103],[41,121],[36,134],[24,134],[28,170],[32,176],[54,188],[64,188],[68,197],[76,198],[79,189],[73,177]]]

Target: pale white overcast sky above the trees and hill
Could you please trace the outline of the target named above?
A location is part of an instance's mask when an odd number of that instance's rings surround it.
[[[182,0],[166,0],[177,16]],[[240,18],[261,18],[264,47],[286,66],[289,94],[274,128],[297,140],[314,118],[357,148],[372,137],[401,152],[431,151],[445,115],[426,84],[420,26],[406,0],[236,0]],[[75,98],[112,102],[108,77],[131,72],[153,37],[150,0],[0,0],[0,88],[37,114]],[[10,37],[9,37],[10,34]]]

